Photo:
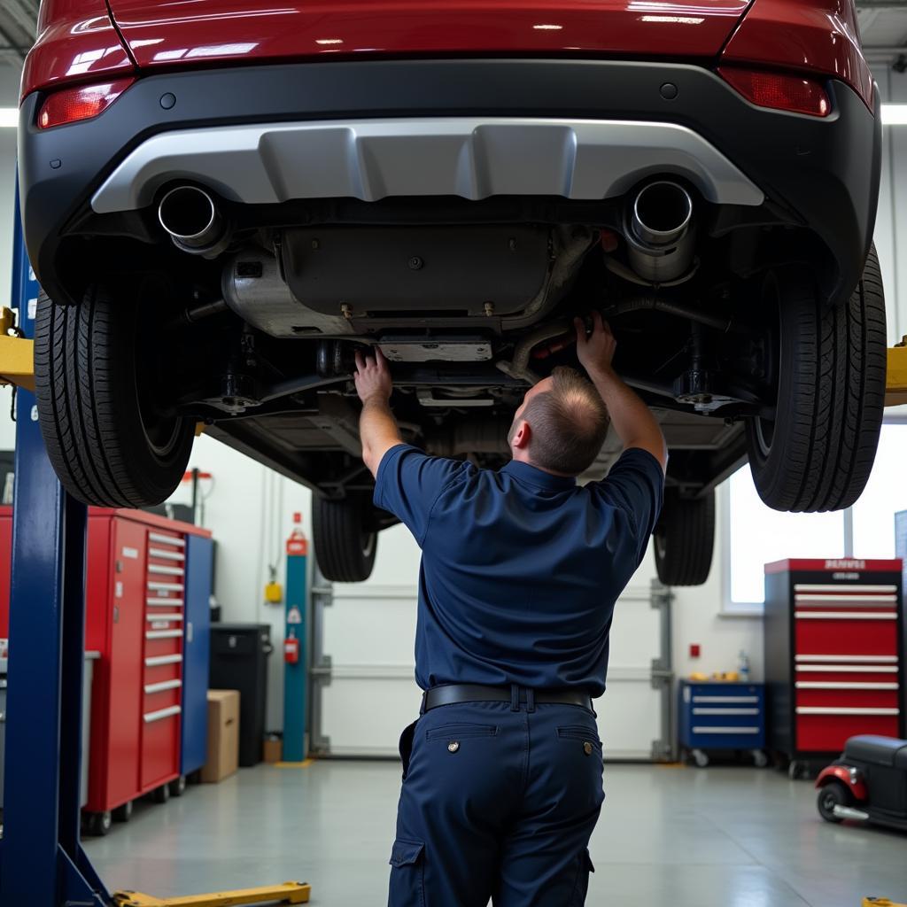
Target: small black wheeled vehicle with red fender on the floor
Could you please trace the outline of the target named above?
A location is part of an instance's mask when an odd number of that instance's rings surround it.
[[[853,736],[816,779],[819,814],[907,831],[907,740]]]

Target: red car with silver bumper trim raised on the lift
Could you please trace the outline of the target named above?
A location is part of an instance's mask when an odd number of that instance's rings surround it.
[[[19,135],[38,414],[84,501],[167,497],[202,422],[312,487],[322,569],[363,579],[391,518],[356,346],[408,439],[495,466],[592,309],[671,448],[662,580],[705,580],[747,458],[779,510],[863,490],[881,124],[851,0],[45,0]]]

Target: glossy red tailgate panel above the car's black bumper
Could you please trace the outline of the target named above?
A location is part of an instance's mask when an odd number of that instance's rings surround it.
[[[714,56],[749,0],[112,0],[141,68],[338,54]]]

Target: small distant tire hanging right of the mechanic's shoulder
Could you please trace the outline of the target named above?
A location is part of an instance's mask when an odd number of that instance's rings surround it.
[[[715,550],[715,492],[681,498],[668,488],[652,544],[659,580],[666,586],[701,586]]]

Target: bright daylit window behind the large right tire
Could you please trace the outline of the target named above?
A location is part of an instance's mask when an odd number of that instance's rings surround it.
[[[894,514],[907,510],[905,463],[907,423],[884,424],[863,496],[849,511],[833,513],[773,511],[759,500],[749,466],[734,473],[722,490],[726,610],[751,609],[765,601],[763,568],[771,561],[894,557]]]

